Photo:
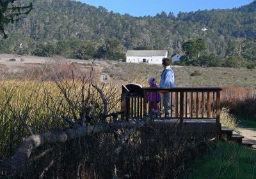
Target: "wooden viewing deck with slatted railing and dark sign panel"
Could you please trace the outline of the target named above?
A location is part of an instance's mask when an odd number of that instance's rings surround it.
[[[134,84],[125,85],[121,96],[121,111],[124,112],[122,118],[143,118],[148,114],[147,92],[170,92],[170,118],[154,118],[150,123],[152,127],[165,131],[220,134],[220,91],[219,87],[152,89]],[[163,110],[162,101],[159,106]]]

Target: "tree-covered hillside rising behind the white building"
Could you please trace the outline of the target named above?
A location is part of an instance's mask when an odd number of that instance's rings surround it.
[[[177,17],[164,11],[132,17],[70,0],[35,0],[33,5],[28,17],[5,27],[10,38],[0,39],[1,53],[118,59],[128,49],[147,48],[184,55],[182,43],[203,38],[206,54],[256,61],[256,1],[231,10],[180,12]]]

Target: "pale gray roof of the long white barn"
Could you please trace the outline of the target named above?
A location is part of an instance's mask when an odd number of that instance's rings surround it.
[[[167,50],[127,50],[126,56],[165,56]]]

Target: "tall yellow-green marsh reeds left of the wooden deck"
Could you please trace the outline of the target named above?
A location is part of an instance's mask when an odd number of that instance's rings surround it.
[[[34,80],[10,80],[0,83],[0,158],[10,157],[22,138],[39,132],[49,132],[68,127],[63,117],[81,118],[81,82],[68,80],[63,83],[68,91],[67,96],[76,104],[68,106],[65,96],[56,82]],[[102,87],[104,85],[104,88]],[[113,83],[102,84],[99,87],[108,101],[109,113],[120,110],[120,88]],[[84,90],[83,96],[87,95]],[[91,90],[91,99],[99,102],[99,108],[93,113],[102,113],[103,104],[99,93]],[[89,101],[90,102],[90,101]],[[74,112],[73,112],[74,111]],[[91,121],[90,124],[97,121]],[[8,152],[4,152],[8,151]]]

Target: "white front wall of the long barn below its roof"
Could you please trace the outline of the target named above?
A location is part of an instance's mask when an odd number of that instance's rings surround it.
[[[162,59],[166,58],[166,56],[151,56],[151,57],[136,57],[136,56],[127,56],[126,62],[132,62],[132,63],[148,63],[148,64],[162,64]],[[145,59],[143,61],[143,59]]]

